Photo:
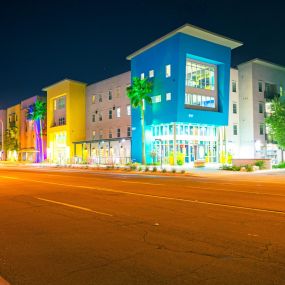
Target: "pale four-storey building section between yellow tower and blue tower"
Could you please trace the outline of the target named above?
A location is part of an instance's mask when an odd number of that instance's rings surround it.
[[[91,84],[86,88],[86,155],[91,163],[130,161],[131,106],[126,95],[130,72]]]

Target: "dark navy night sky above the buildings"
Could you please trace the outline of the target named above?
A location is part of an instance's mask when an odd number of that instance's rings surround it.
[[[129,70],[127,55],[190,23],[244,42],[232,66],[285,65],[283,0],[1,1],[0,109],[63,78],[93,83]]]

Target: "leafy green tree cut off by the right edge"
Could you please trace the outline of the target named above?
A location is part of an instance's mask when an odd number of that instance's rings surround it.
[[[266,123],[269,126],[270,134],[283,153],[285,149],[285,102],[282,99],[275,98],[272,101],[272,114],[266,118]]]

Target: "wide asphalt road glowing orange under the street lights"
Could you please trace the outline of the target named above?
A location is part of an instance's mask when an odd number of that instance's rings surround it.
[[[1,285],[285,284],[284,173],[0,181]]]

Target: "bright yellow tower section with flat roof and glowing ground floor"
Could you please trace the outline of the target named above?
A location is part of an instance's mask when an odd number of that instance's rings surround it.
[[[73,142],[85,140],[86,84],[65,79],[47,92],[47,158],[51,163],[74,161]],[[82,155],[80,149],[77,155]]]

